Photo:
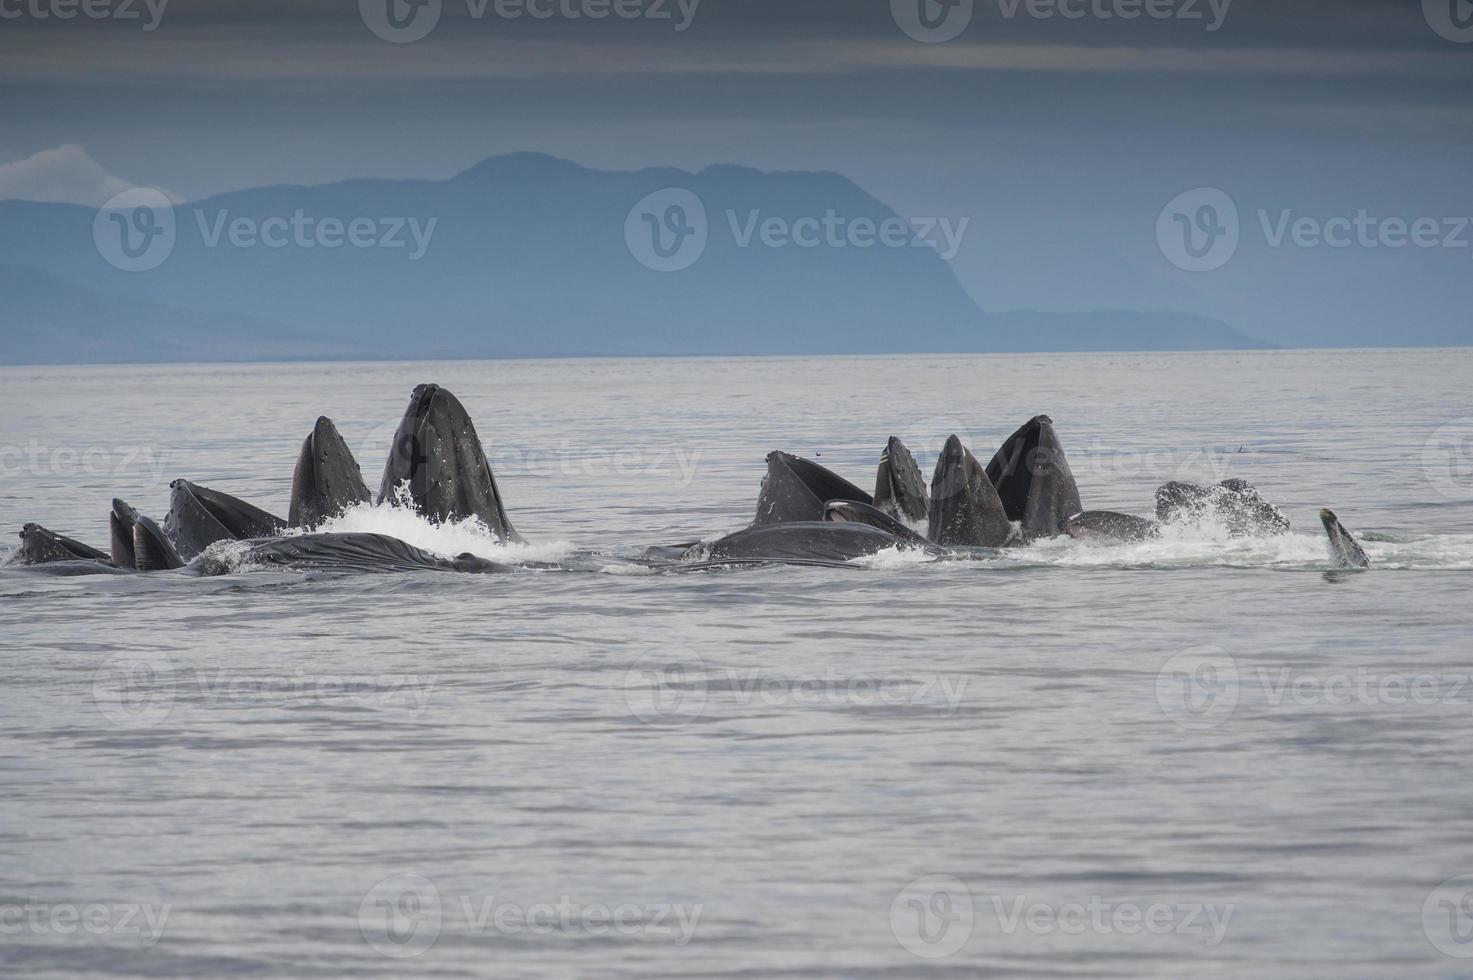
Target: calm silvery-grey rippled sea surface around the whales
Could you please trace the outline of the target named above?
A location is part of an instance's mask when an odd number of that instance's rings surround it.
[[[1473,974],[1473,352],[0,370],[0,526],[377,485],[418,382],[513,557],[1047,411],[1091,508],[1295,522],[686,576],[0,572],[3,976]],[[1315,511],[1368,536],[1330,572]],[[356,513],[440,551],[467,528]],[[7,541],[10,531],[6,531]],[[9,547],[9,545],[6,545]],[[1451,881],[1449,881],[1451,880]]]

